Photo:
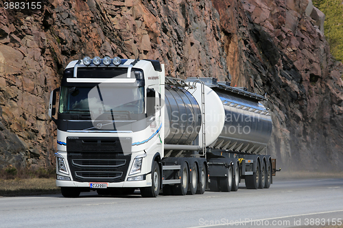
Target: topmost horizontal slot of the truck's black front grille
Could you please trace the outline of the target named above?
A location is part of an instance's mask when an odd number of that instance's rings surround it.
[[[73,165],[78,167],[104,167],[104,168],[115,168],[124,166],[126,160],[80,160],[73,159]]]

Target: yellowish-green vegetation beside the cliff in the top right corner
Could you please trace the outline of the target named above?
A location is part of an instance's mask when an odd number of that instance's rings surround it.
[[[313,0],[314,6],[325,14],[324,34],[333,57],[343,62],[343,1]]]

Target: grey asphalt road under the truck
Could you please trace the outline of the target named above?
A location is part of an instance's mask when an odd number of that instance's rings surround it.
[[[143,199],[84,192],[1,197],[0,227],[314,227],[343,224],[343,179],[274,181],[270,189]]]

